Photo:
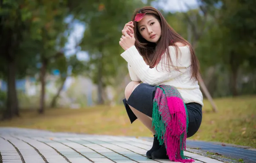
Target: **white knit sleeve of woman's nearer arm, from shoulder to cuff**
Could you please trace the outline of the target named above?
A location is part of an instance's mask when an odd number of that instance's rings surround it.
[[[190,53],[180,55],[180,52],[178,52],[179,57],[177,60],[175,48],[173,46],[169,46],[168,48],[173,65],[177,66],[180,71],[177,71],[172,67],[171,72],[168,72],[168,66],[165,65],[167,61],[166,55],[163,55],[158,63],[157,69],[156,66],[154,68],[149,68],[135,46],[128,48],[121,54],[121,56],[128,62],[128,65],[131,66],[134,73],[139,76],[141,82],[149,85],[160,85],[162,82],[176,78],[180,74],[186,72],[187,67],[191,65]],[[167,69],[165,67],[167,67]]]

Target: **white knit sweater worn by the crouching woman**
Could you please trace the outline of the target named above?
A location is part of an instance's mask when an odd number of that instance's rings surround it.
[[[128,48],[121,56],[128,62],[128,70],[132,81],[153,86],[174,86],[180,92],[185,103],[199,103],[203,106],[203,95],[199,89],[198,81],[195,78],[190,79],[192,73],[189,46],[182,46],[179,49],[177,60],[175,47],[169,46],[173,65],[178,66],[180,72],[174,68],[171,69],[171,72],[168,72],[169,69],[165,68],[168,59],[166,55],[162,56],[157,69],[156,67],[149,68],[135,46]]]

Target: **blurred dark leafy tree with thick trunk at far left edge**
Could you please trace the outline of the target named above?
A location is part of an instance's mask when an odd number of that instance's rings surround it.
[[[21,54],[24,33],[29,30],[30,9],[34,3],[26,0],[0,0],[0,75],[7,81],[7,105],[4,118],[19,115],[15,80],[24,75],[32,58]]]

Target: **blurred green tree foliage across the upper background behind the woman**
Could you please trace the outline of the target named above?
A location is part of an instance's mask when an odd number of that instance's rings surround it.
[[[119,55],[121,30],[135,9],[161,0],[0,0],[0,78],[9,85],[6,117],[18,115],[15,80],[37,76],[39,111],[45,108],[46,75],[58,69],[58,92],[67,76],[83,75],[98,86],[98,103],[107,86],[123,87],[128,73]],[[255,0],[197,0],[186,12],[161,10],[171,27],[195,48],[201,75],[213,97],[256,93]],[[75,24],[85,27],[67,55]],[[87,52],[87,60],[77,53]],[[67,69],[70,68],[70,74]],[[119,89],[117,89],[119,90]],[[117,93],[118,94],[118,93]]]

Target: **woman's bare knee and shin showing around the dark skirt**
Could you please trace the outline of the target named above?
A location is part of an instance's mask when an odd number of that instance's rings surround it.
[[[139,82],[130,82],[126,88],[125,88],[125,98],[128,100],[128,98],[131,96],[131,93],[137,88],[137,86],[140,85]],[[136,117],[152,132],[153,135],[155,135],[155,127],[152,127],[152,120],[142,112],[134,109],[131,107],[132,112]],[[149,108],[151,109],[151,108]]]

